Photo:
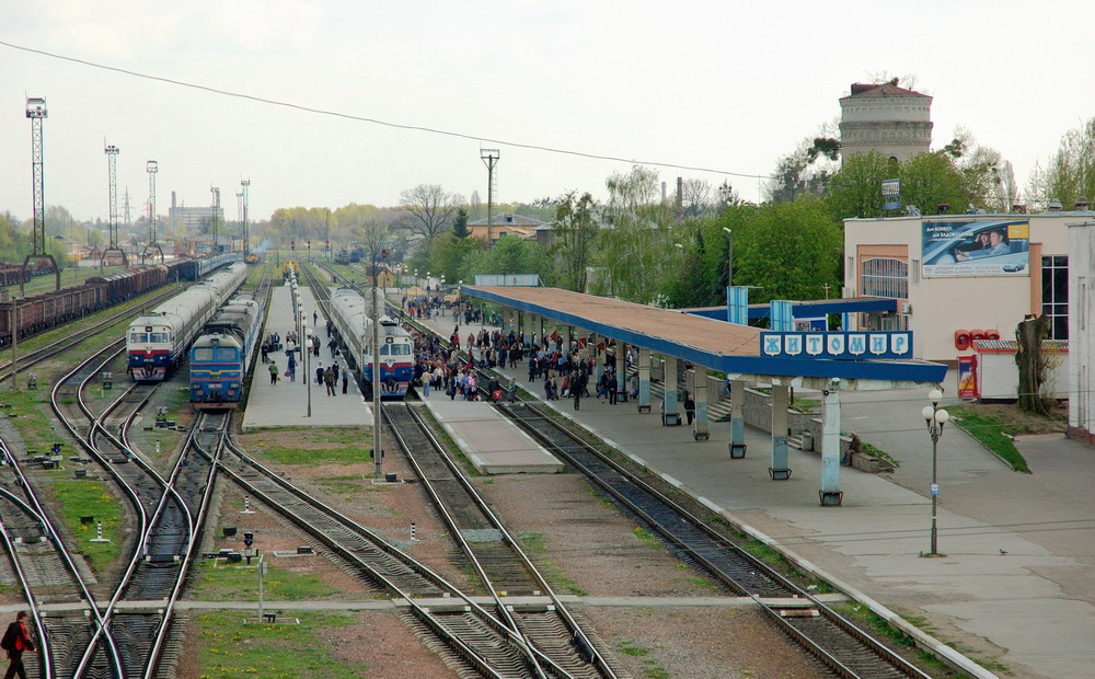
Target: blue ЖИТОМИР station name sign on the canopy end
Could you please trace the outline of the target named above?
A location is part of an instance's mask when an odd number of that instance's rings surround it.
[[[887,332],[762,332],[760,350],[773,358],[827,360],[911,359],[912,333]]]

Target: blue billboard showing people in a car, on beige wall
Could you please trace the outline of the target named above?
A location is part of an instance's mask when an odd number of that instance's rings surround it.
[[[1030,275],[1030,222],[1026,220],[925,220],[921,244],[925,278]]]

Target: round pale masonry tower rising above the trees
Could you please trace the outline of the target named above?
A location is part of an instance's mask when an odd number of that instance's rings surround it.
[[[840,100],[841,156],[877,151],[899,162],[932,146],[932,97],[898,87],[853,83]]]

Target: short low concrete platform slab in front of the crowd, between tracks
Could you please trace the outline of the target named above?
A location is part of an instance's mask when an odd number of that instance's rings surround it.
[[[485,401],[449,399],[433,390],[423,401],[483,474],[552,474],[563,463]]]

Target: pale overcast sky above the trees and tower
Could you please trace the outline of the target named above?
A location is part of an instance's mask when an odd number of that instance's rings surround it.
[[[481,148],[500,149],[497,197],[604,195],[629,162],[729,181],[746,199],[871,74],[914,74],[934,96],[933,148],[956,126],[1011,160],[1021,185],[1095,116],[1095,2],[607,2],[541,0],[48,0],[0,3],[0,41],[96,65],[418,126],[401,129],[149,80],[0,45],[0,210],[32,216],[25,96],[44,96],[45,199],[107,218],[104,140],[134,219],[159,162],[171,192],[237,215],[395,205],[440,184],[486,202]],[[482,142],[480,141],[482,140]]]

